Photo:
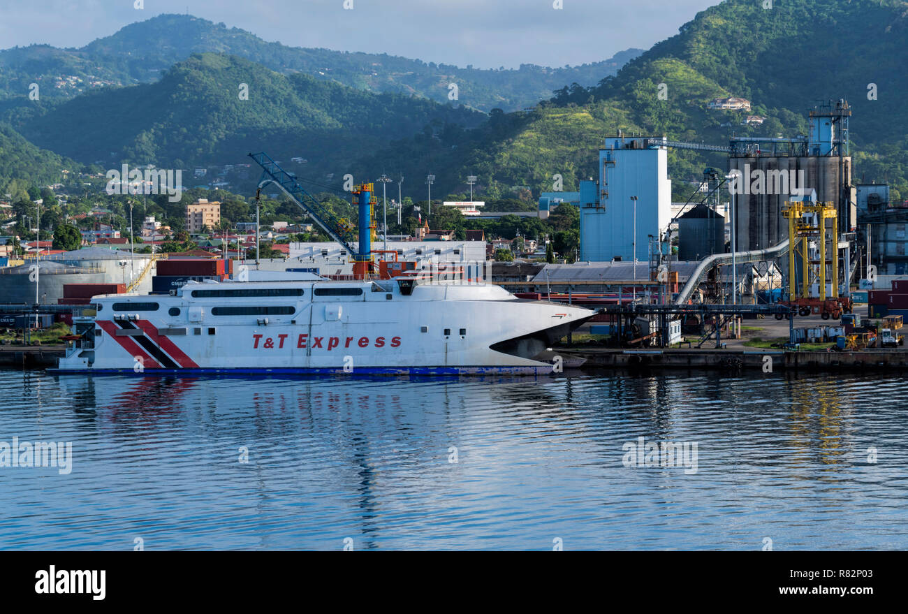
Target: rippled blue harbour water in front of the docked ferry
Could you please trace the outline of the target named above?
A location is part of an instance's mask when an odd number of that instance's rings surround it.
[[[905,384],[0,371],[0,440],[73,443],[0,467],[0,548],[901,549]]]

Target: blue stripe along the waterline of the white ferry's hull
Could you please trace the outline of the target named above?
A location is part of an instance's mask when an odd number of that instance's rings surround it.
[[[346,372],[334,368],[275,368],[275,369],[48,369],[61,375],[549,375],[550,366],[540,367],[357,367]]]

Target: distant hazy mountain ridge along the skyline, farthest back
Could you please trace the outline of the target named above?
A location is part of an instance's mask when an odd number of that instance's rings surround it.
[[[488,112],[495,107],[533,106],[564,84],[597,84],[642,50],[630,49],[581,66],[523,64],[518,69],[483,70],[388,54],[290,47],[190,15],[159,15],[79,49],[30,45],[0,51],[0,99],[22,98],[33,83],[48,99],[112,84],[152,83],[173,64],[203,53],[236,55],[281,74],[308,74],[360,90],[419,95],[439,103],[448,102],[449,84],[455,83],[460,104]]]

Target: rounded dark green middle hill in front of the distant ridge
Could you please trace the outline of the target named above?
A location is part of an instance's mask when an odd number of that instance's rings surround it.
[[[248,98],[246,96],[248,95]],[[33,143],[84,163],[189,168],[249,162],[265,150],[303,157],[309,173],[338,177],[391,139],[485,116],[424,98],[370,94],[242,58],[202,54],[154,84],[104,88],[19,117]]]

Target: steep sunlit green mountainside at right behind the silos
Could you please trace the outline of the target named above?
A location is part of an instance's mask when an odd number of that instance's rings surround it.
[[[565,189],[596,173],[595,150],[618,128],[681,141],[725,144],[729,136],[805,134],[807,111],[821,99],[845,98],[851,120],[855,178],[888,180],[908,197],[908,4],[896,0],[726,0],[696,15],[679,34],[629,62],[594,87],[564,88],[549,103],[508,122],[507,134],[465,161],[493,188]],[[659,98],[660,84],[667,99]],[[878,96],[871,100],[871,84]],[[746,114],[709,111],[719,96],[743,96]],[[726,124],[726,125],[723,125]],[[731,125],[727,125],[731,124]],[[684,199],[721,155],[670,151],[676,199]],[[462,173],[461,173],[462,174]]]

